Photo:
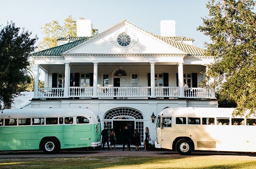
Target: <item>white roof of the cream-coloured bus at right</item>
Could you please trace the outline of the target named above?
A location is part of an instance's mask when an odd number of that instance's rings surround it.
[[[159,115],[175,117],[232,117],[232,112],[234,110],[234,108],[178,107],[164,109]]]

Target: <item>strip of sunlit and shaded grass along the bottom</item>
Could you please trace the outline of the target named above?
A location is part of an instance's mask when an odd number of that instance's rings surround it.
[[[255,169],[255,158],[234,157],[77,157],[0,159],[0,168],[86,169]]]

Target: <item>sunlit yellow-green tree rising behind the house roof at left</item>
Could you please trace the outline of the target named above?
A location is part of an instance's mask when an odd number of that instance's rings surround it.
[[[85,18],[80,17],[80,19]],[[57,46],[58,42],[56,39],[58,38],[67,37],[68,35],[76,37],[76,19],[70,15],[64,20],[64,25],[59,25],[57,20],[53,20],[52,22],[46,23],[42,29],[46,37],[39,43],[39,50]],[[92,28],[92,34],[95,35],[97,33],[98,29]]]

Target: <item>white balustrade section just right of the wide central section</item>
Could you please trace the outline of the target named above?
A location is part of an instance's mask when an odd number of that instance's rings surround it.
[[[155,87],[156,97],[179,97],[180,87]]]

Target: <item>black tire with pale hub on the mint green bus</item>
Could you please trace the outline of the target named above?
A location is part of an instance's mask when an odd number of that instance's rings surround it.
[[[59,151],[58,141],[55,139],[45,139],[42,143],[42,149],[46,154],[55,154]]]

